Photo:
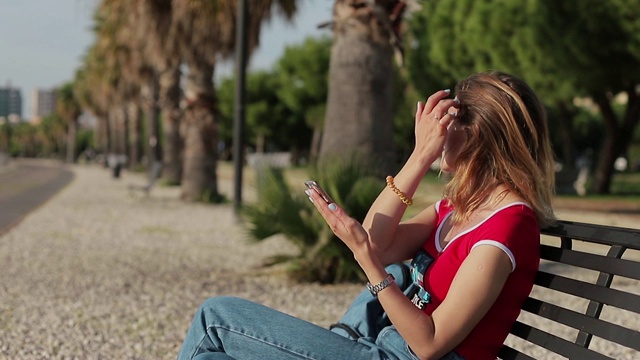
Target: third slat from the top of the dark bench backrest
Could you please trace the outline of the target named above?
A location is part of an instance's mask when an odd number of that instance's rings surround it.
[[[640,296],[561,275],[538,271],[535,284],[640,314]]]

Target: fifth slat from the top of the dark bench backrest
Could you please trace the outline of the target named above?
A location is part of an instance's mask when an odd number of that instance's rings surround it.
[[[613,360],[613,358],[602,355],[593,350],[583,348],[570,341],[559,338],[540,329],[536,329],[530,325],[523,324],[519,321],[516,321],[516,323],[513,325],[513,328],[511,328],[511,333],[521,339],[542,346],[545,349],[548,349],[569,359]]]

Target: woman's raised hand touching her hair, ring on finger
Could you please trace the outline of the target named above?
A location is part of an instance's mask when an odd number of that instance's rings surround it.
[[[435,161],[442,153],[447,128],[457,116],[460,103],[457,99],[447,99],[450,94],[450,90],[440,90],[429,96],[425,104],[418,102],[414,152],[430,161]]]

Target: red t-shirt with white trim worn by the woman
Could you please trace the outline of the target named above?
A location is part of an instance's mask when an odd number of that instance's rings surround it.
[[[465,359],[495,359],[504,340],[531,292],[540,263],[540,228],[533,210],[525,203],[506,205],[473,228],[456,235],[444,249],[440,232],[452,215],[448,201],[436,204],[438,222],[424,249],[435,261],[425,274],[425,289],[431,302],[425,308],[430,315],[447,296],[451,282],[462,262],[475,246],[491,245],[511,259],[512,272],[496,302],[471,333],[455,348]]]

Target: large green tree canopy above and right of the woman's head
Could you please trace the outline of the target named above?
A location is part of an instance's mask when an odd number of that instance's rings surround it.
[[[613,161],[630,143],[640,120],[640,1],[424,2],[413,18],[415,86],[430,94],[470,73],[501,70],[525,79],[557,114],[551,118],[572,142],[580,111],[574,99],[593,99],[606,129],[599,151],[596,191],[609,190]],[[622,116],[612,110],[624,94]],[[557,123],[557,124],[554,124]],[[565,159],[571,163],[573,159]]]

